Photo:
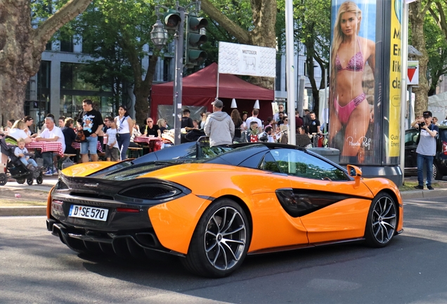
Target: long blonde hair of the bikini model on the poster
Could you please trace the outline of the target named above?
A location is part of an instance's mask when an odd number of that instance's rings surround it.
[[[332,50],[330,51],[330,103],[333,103],[334,97],[335,97],[335,74],[337,73],[337,68],[335,67],[335,58],[337,58],[337,52],[340,47],[340,44],[342,44],[344,39],[344,34],[342,31],[342,27],[340,26],[340,22],[342,20],[342,15],[344,13],[354,13],[356,14],[356,17],[358,18],[358,24],[357,24],[357,32],[360,31],[360,23],[362,19],[362,11],[360,8],[358,8],[357,4],[355,4],[353,1],[345,1],[342,3],[342,5],[339,7],[337,11],[337,19],[335,19],[335,27],[334,27],[334,38],[332,41]]]

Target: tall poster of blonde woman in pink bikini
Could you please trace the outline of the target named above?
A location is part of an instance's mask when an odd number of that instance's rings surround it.
[[[377,1],[332,0],[331,9],[329,146],[339,149],[341,164],[375,165],[382,146],[375,125]]]

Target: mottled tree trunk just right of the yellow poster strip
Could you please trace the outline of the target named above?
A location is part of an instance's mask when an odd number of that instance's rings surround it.
[[[429,84],[427,81],[428,54],[425,48],[424,37],[425,8],[421,8],[421,1],[415,1],[409,5],[408,20],[410,21],[412,42],[411,44],[422,53],[419,60],[419,87],[413,87],[415,93],[415,116],[422,115],[428,106]]]

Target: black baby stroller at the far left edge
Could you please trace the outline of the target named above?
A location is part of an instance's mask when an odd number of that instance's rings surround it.
[[[20,159],[14,155],[14,149],[17,147],[17,141],[13,137],[3,137],[0,140],[1,153],[8,156],[8,163],[6,167],[0,172],[0,186],[4,186],[8,182],[8,173],[11,178],[15,179],[18,184],[32,185],[34,179],[36,179],[37,184],[44,182],[44,174],[42,170],[32,171],[28,169]]]

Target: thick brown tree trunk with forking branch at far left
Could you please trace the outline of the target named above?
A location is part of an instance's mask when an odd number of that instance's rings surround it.
[[[53,34],[82,13],[91,0],[70,0],[37,27],[30,0],[0,1],[0,108],[4,119],[22,118],[25,91]]]

